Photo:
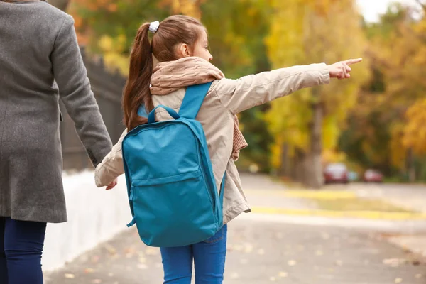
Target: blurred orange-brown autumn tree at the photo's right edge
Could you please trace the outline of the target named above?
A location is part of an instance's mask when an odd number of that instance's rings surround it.
[[[353,122],[341,145],[351,160],[388,175],[403,172],[412,181],[421,163],[420,153],[405,139],[407,125],[417,121],[407,111],[426,91],[426,30],[420,14],[415,7],[393,4],[378,23],[366,25],[373,77],[351,111]],[[421,141],[417,133],[415,138],[410,132],[410,141]]]

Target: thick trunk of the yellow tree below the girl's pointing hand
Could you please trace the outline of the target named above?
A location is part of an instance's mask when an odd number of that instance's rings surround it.
[[[314,94],[315,95],[315,94]],[[322,104],[315,102],[312,104],[312,123],[310,126],[310,153],[307,158],[306,185],[312,188],[320,188],[324,184],[322,175]]]

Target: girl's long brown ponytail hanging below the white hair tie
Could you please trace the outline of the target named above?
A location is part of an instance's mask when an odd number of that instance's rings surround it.
[[[147,113],[153,109],[149,89],[153,73],[153,54],[148,38],[149,23],[144,23],[136,34],[130,55],[129,78],[123,92],[124,124],[128,131],[146,124],[145,117],[138,116],[138,109],[144,105]]]

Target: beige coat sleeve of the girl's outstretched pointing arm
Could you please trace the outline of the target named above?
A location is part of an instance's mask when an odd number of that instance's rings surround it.
[[[232,114],[238,114],[298,89],[328,84],[329,80],[327,65],[321,63],[262,72],[238,80],[217,80],[212,90],[226,109]]]

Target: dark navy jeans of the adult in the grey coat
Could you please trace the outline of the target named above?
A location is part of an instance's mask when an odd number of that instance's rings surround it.
[[[0,217],[0,284],[43,284],[46,223]]]

